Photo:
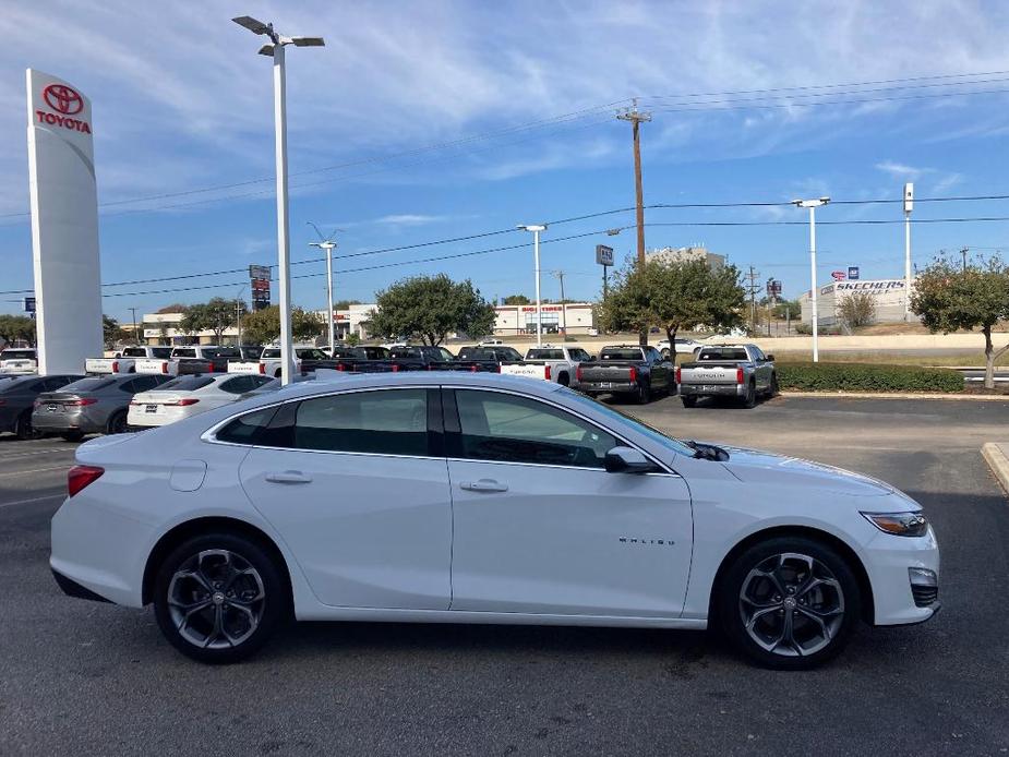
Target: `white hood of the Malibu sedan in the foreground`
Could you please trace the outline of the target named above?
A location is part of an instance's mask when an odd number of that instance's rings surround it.
[[[848,496],[882,496],[897,491],[888,483],[843,468],[759,449],[720,446],[729,453],[722,465],[746,483],[814,486]]]

